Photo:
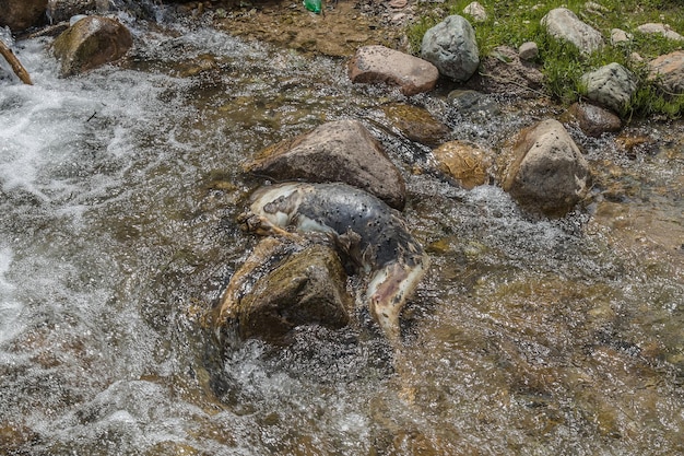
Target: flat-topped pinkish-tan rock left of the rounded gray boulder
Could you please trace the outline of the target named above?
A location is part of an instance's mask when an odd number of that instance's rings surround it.
[[[435,89],[439,71],[428,61],[385,46],[364,46],[349,63],[349,77],[355,83],[399,85],[404,95]]]

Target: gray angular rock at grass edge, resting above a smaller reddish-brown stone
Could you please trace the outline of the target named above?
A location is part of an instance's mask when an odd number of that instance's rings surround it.
[[[592,102],[621,113],[637,90],[636,77],[620,63],[609,63],[581,78],[587,97]]]

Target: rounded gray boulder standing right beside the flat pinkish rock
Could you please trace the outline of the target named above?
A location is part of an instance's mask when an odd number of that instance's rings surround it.
[[[457,82],[468,81],[477,70],[480,51],[475,31],[460,15],[450,15],[423,36],[421,57]]]

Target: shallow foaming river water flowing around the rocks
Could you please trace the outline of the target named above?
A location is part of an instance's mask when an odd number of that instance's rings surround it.
[[[35,85],[0,80],[0,453],[684,453],[681,120],[630,126],[623,147],[569,126],[592,201],[536,220],[495,185],[440,178],[382,106],[495,151],[557,107],[462,115],[446,90],[353,85],[343,59],[132,28],[121,66],[60,79],[51,38],[33,38]],[[363,311],[288,347],[219,341],[207,317],[256,242],[235,218],[263,179],[241,164],[342,118],[402,169],[432,256],[403,347]]]

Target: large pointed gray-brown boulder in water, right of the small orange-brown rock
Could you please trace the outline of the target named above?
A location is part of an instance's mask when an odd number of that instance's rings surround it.
[[[586,197],[589,165],[559,121],[522,130],[511,152],[502,186],[526,210],[563,217]]]

